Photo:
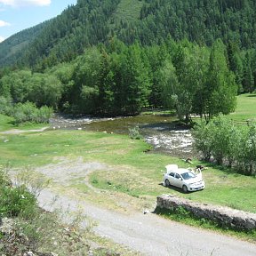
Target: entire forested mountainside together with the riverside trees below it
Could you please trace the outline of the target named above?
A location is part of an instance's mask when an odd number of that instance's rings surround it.
[[[0,44],[0,112],[31,101],[100,116],[169,108],[186,122],[228,114],[256,86],[254,10],[252,0],[78,0]]]

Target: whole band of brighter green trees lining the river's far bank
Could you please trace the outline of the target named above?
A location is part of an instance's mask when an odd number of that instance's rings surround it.
[[[230,52],[221,40],[212,48],[171,38],[143,47],[113,38],[108,47],[88,48],[76,60],[44,73],[10,72],[0,80],[0,92],[14,102],[29,100],[73,113],[118,116],[137,115],[148,107],[174,108],[186,123],[194,114],[209,121],[236,106]]]

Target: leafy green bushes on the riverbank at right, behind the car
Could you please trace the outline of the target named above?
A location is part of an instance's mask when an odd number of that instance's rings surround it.
[[[228,117],[218,116],[193,129],[195,147],[204,160],[228,165],[245,175],[256,175],[256,123],[236,125]]]

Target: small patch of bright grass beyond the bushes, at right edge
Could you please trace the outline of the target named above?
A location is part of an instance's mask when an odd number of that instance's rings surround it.
[[[256,93],[246,93],[237,96],[237,106],[231,118],[236,122],[256,120]]]

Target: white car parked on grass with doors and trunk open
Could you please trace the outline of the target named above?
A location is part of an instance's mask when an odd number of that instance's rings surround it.
[[[165,168],[166,173],[163,179],[163,185],[165,187],[172,185],[182,188],[185,193],[204,189],[204,180],[200,169],[193,172],[185,168],[178,168],[177,164],[169,164]]]

